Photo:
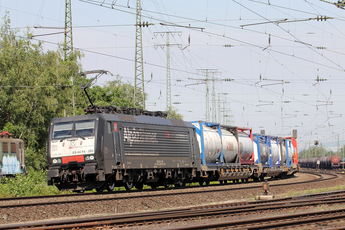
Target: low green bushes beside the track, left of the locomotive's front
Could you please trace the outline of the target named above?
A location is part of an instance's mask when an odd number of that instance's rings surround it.
[[[0,197],[40,196],[60,193],[55,186],[47,186],[47,171],[28,168],[28,176],[16,174],[0,181]]]

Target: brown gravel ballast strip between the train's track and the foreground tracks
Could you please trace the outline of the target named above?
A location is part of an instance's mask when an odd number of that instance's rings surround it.
[[[326,178],[327,176],[324,176]],[[296,173],[295,178],[285,179],[284,181],[271,181],[270,185],[288,182],[298,182],[310,179],[315,179],[316,176],[312,174]],[[310,182],[298,185],[280,186],[272,187],[269,190],[269,194],[283,194],[288,192],[303,191],[309,189],[309,184],[311,184],[312,189],[316,188],[326,188],[334,187],[338,184],[344,184],[345,178],[339,176],[337,179],[330,181],[321,182]],[[128,198],[128,199],[115,199],[108,201],[91,201],[83,202],[83,199],[101,198],[104,197],[121,197],[123,194],[105,194],[105,195],[87,195],[87,196],[77,196],[73,197],[72,200],[80,198],[80,201],[69,204],[58,204],[58,205],[43,205],[43,206],[32,206],[32,207],[22,207],[22,208],[2,208],[0,209],[0,224],[9,224],[15,222],[27,222],[27,221],[40,221],[40,220],[53,220],[57,218],[80,218],[81,216],[99,216],[103,214],[114,214],[114,213],[126,213],[126,212],[139,212],[147,210],[160,210],[160,209],[171,209],[180,207],[193,207],[203,204],[210,203],[228,203],[234,200],[248,201],[251,197],[262,195],[262,189],[246,189],[231,192],[224,191],[212,191],[220,188],[241,188],[248,186],[260,186],[261,182],[248,184],[238,184],[238,185],[227,185],[220,187],[207,187],[207,188],[193,188],[193,189],[183,189],[179,191],[190,191],[195,192],[198,190],[208,189],[205,193],[187,193],[187,194],[175,194],[172,191],[151,191],[151,192],[135,192],[135,194],[161,194],[166,192],[166,196],[160,197],[149,197],[149,198]],[[170,193],[170,194],[169,194]],[[117,196],[120,195],[120,196]],[[126,196],[128,193],[126,194]],[[63,197],[62,199],[68,199],[68,197]],[[40,199],[37,202],[47,202],[56,200],[56,198]],[[60,199],[61,200],[61,199]],[[24,200],[15,200],[14,203],[21,203]],[[9,202],[9,201],[7,201]],[[31,203],[30,200],[29,203]]]

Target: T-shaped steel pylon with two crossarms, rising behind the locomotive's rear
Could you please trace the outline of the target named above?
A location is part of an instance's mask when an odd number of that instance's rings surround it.
[[[171,34],[174,37],[174,34],[177,33],[179,36],[181,36],[182,32],[154,32],[155,36],[157,34],[161,34],[163,37],[164,34],[166,34],[166,45],[155,45],[155,47],[167,47],[167,111],[171,109],[171,83],[170,83],[170,46],[181,46],[181,44],[170,44],[169,41],[169,34]]]

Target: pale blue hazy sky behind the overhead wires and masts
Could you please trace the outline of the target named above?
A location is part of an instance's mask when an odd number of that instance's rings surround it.
[[[114,74],[102,76],[99,85],[116,75],[134,84],[136,2],[71,0],[71,8],[73,48],[85,55],[83,71]],[[338,138],[342,146],[345,10],[320,0],[141,0],[141,8],[142,21],[154,23],[142,28],[147,110],[167,108],[161,32],[171,32],[171,102],[184,120],[206,120],[208,69],[210,121],[215,114],[221,124],[285,137],[297,129],[299,148],[319,140],[335,150]],[[64,27],[63,0],[0,0],[0,17],[5,10],[21,34],[27,26],[34,35],[63,32],[34,28]],[[313,19],[321,16],[333,19]],[[56,50],[63,38],[36,36],[33,42]]]

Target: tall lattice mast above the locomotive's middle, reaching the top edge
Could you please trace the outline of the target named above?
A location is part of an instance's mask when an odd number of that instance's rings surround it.
[[[137,19],[135,31],[134,104],[145,110],[144,66],[142,63],[141,7],[137,0]]]

